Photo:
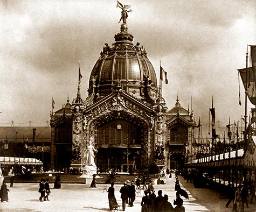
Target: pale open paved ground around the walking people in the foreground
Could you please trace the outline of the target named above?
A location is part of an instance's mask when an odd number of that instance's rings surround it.
[[[210,189],[194,188],[192,183],[187,183],[179,178],[181,187],[189,193],[189,200],[184,198],[185,211],[232,211],[232,203],[229,208],[225,207],[227,199],[219,199],[219,194]],[[163,194],[169,196],[169,201],[173,203],[175,199],[175,179],[168,178],[167,184],[156,185],[156,193],[162,189]],[[106,185],[97,185],[96,188],[89,188],[83,184],[61,184],[60,189],[53,189],[51,186],[50,201],[39,202],[38,183],[15,183],[13,188],[9,188],[9,202],[0,202],[0,211],[109,211],[108,193],[103,192]],[[9,187],[9,185],[8,185]],[[117,203],[121,206],[119,189],[121,185],[115,185],[115,196]],[[127,207],[126,211],[141,211],[141,199],[136,196],[134,207]],[[122,209],[122,208],[121,208]],[[249,204],[245,211],[256,211],[256,204]]]

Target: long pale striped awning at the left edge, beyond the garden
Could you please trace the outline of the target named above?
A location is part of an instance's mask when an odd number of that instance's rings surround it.
[[[0,164],[43,165],[43,162],[36,158],[0,157]]]

